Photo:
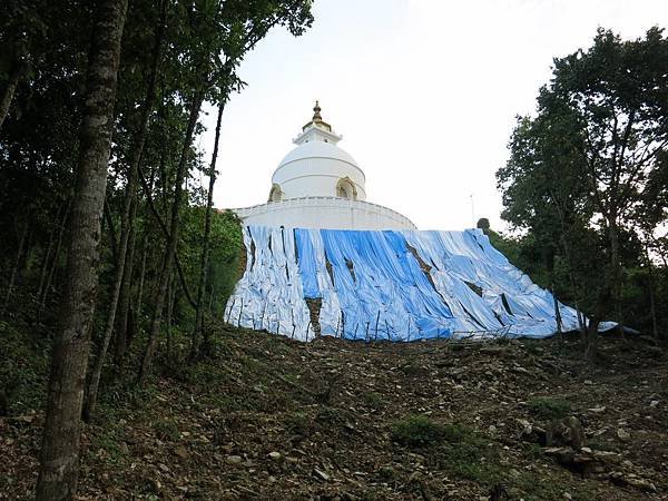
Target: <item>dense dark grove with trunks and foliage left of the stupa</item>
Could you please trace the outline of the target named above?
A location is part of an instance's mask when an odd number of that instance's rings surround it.
[[[244,56],[275,26],[302,33],[311,1],[0,9],[0,314],[52,350],[37,495],[69,499],[107,363],[144,384],[163,344],[174,360],[207,353],[240,252],[238,222],[213,210],[222,115]],[[206,104],[210,159],[196,147]],[[185,353],[160,342],[175,333]]]

